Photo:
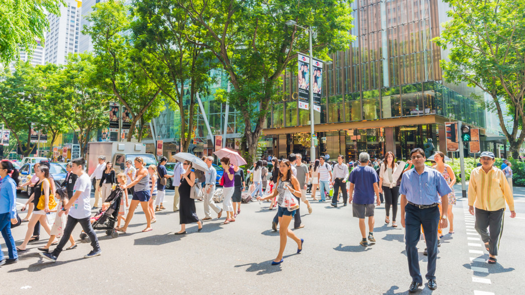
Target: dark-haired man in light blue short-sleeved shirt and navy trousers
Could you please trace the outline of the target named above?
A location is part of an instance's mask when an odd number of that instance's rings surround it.
[[[447,227],[446,213],[439,221],[438,205],[441,203],[443,212],[447,212],[447,196],[452,190],[439,171],[425,166],[426,157],[423,149],[413,149],[410,157],[414,168],[403,174],[399,192],[401,194],[401,225],[405,228],[408,271],[412,277],[412,284],[408,292],[413,293],[423,285],[417,253],[417,242],[422,226],[428,249],[428,268],[425,277],[430,290],[437,288],[434,275],[437,259],[437,229],[439,223],[442,228]]]

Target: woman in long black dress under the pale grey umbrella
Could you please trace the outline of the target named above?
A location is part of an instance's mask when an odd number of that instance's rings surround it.
[[[182,165],[186,169],[186,173],[182,175],[181,186],[178,187],[178,194],[180,195],[178,216],[181,222],[181,230],[175,232],[175,235],[184,235],[187,223],[197,222],[198,231],[202,230],[202,221],[198,219],[195,210],[195,199],[190,197],[195,185],[195,172],[192,172],[193,164],[190,161],[184,161]]]

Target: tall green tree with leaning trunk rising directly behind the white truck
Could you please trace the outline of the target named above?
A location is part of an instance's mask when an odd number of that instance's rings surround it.
[[[133,62],[138,57],[133,56],[133,40],[128,35],[129,7],[121,1],[110,0],[96,4],[94,9],[87,18],[91,26],[85,27],[82,33],[90,35],[93,41],[95,73],[100,87],[110,89],[130,112],[132,121],[127,139],[131,141],[135,125],[146,110],[155,108],[160,113],[164,109],[161,90],[137,70]]]

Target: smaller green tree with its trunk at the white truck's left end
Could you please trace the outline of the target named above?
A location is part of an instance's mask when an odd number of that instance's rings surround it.
[[[64,117],[78,133],[80,155],[85,156],[93,134],[108,125],[108,103],[111,95],[98,87],[97,65],[91,54],[69,55],[62,74],[57,78],[63,89]]]

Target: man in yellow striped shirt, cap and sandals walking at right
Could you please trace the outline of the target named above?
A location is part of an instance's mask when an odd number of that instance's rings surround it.
[[[510,217],[516,217],[514,200],[505,174],[494,167],[495,157],[490,151],[481,153],[481,166],[472,170],[468,184],[468,211],[476,216],[476,230],[489,251],[488,263],[495,264],[498,240],[503,231],[505,201]],[[476,214],[474,214],[476,207]],[[487,231],[488,228],[488,231]]]

